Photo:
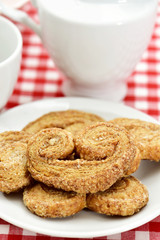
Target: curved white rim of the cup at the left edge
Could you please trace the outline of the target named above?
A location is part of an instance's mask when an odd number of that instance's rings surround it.
[[[13,32],[16,34],[17,36],[17,46],[14,49],[14,51],[9,55],[9,57],[7,57],[5,60],[3,60],[2,62],[0,62],[0,67],[8,64],[10,61],[12,61],[21,51],[22,49],[22,35],[19,31],[19,29],[16,27],[16,25],[14,23],[12,23],[10,20],[8,20],[5,17],[0,16],[0,21],[4,22],[5,24],[8,24],[8,26],[10,28],[12,28]]]

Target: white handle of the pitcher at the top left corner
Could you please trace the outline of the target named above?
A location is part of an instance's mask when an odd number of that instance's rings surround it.
[[[10,8],[3,4],[2,2],[0,2],[0,13],[16,22],[20,22],[26,25],[41,38],[40,25],[35,23],[25,12],[18,9]]]

